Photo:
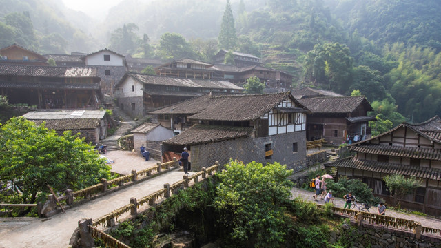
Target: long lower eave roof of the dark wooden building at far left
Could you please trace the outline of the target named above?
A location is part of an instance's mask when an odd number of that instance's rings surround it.
[[[99,90],[98,83],[30,83],[0,81],[0,87],[9,89],[55,89],[55,90]]]

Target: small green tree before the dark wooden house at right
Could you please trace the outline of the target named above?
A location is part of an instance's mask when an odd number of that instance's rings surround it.
[[[416,179],[415,176],[405,178],[402,175],[393,174],[391,176],[384,176],[383,180],[391,192],[394,206],[399,206],[400,199],[404,198],[407,194],[411,194],[421,185],[420,180]]]

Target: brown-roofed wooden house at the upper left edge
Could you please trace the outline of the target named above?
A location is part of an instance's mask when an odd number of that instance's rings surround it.
[[[0,49],[0,64],[8,63],[14,65],[47,65],[44,56],[22,48],[17,44]]]

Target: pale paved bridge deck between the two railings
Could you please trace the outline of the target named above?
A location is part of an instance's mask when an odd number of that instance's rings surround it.
[[[192,174],[192,173],[190,173]],[[177,169],[143,183],[121,189],[107,196],[92,200],[78,207],[68,209],[66,214],[50,218],[29,218],[29,221],[8,223],[0,220],[0,247],[69,247],[69,240],[81,218],[99,218],[114,209],[130,203],[130,198],[142,198],[158,189],[164,183],[175,183],[183,179],[184,173]],[[8,226],[14,224],[14,228]]]

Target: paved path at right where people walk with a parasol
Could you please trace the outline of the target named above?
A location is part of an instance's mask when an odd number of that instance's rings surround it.
[[[298,188],[292,189],[291,192],[292,192],[292,198],[299,197],[299,198],[302,198],[303,200],[309,200],[311,202],[314,202],[314,198],[312,198],[312,196],[314,196],[314,192],[310,192],[308,190],[298,189]],[[324,205],[325,201],[318,200],[317,204]],[[342,198],[335,198],[334,205],[336,207],[344,207],[345,200],[343,200]],[[371,213],[376,214],[377,207],[371,207],[371,209],[369,209],[369,210]],[[400,211],[393,211],[391,209],[386,209],[386,215],[393,216],[396,218],[403,218],[403,219],[407,219],[407,220],[415,220],[415,221],[420,222],[423,227],[432,227],[435,229],[441,229],[441,220],[436,219],[436,218],[417,216],[415,214],[407,214],[407,213],[403,213]]]

